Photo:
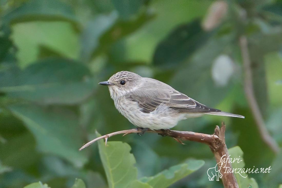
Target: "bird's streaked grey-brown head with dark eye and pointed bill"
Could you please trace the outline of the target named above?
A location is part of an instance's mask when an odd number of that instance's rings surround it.
[[[137,89],[142,84],[142,78],[133,72],[120,71],[99,84],[109,86],[111,98],[115,99]]]

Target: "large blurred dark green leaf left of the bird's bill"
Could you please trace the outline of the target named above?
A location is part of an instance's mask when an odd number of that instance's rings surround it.
[[[87,67],[62,58],[44,59],[24,70],[11,66],[0,73],[1,92],[40,104],[76,104],[91,96],[96,86],[87,78]]]

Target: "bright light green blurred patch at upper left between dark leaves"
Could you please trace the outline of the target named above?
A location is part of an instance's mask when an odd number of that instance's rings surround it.
[[[44,56],[55,54],[70,59],[79,57],[79,36],[69,22],[17,23],[12,26],[11,39],[18,49],[16,57],[22,68],[34,63],[42,53],[45,53]],[[47,50],[49,53],[46,53]]]

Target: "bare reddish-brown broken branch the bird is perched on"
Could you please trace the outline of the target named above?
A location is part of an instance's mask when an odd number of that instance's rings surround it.
[[[142,130],[129,129],[129,130],[124,130],[124,131],[112,132],[110,134],[106,134],[98,138],[95,138],[94,140],[91,140],[90,142],[83,145],[79,149],[79,151],[81,151],[85,147],[91,145],[92,143],[100,139],[105,139],[106,140],[105,144],[107,145],[107,140],[111,136],[114,136],[117,134],[126,135],[126,134],[131,134],[131,133],[138,133],[138,132],[142,132]],[[182,143],[181,140],[190,140],[190,141],[207,144],[209,145],[211,151],[213,152],[217,163],[223,162],[221,167],[224,166],[224,167],[232,169],[231,163],[229,163],[229,160],[227,160],[229,154],[228,154],[228,150],[225,144],[225,125],[224,123],[222,123],[221,129],[219,129],[219,126],[216,126],[215,133],[213,135],[197,133],[197,132],[190,132],[190,131],[173,131],[173,130],[164,130],[164,129],[161,129],[161,130],[150,130],[149,129],[146,132],[158,133],[162,136],[170,136],[180,143]],[[237,180],[233,173],[225,172],[224,168],[220,168],[220,172],[222,174],[222,182],[223,182],[224,187],[239,188]]]

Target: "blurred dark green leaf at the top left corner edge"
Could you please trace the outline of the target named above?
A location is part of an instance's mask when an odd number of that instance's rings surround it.
[[[57,0],[30,0],[3,17],[5,24],[36,20],[77,21],[71,7]]]

